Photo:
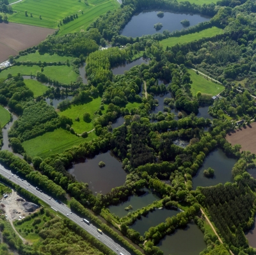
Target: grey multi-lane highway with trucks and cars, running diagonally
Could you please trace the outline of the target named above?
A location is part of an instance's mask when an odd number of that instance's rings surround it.
[[[18,175],[4,168],[1,164],[0,164],[0,174],[2,174],[5,178],[8,178],[9,180],[11,180],[13,183],[31,192],[33,195],[35,195],[36,197],[38,197],[39,199],[47,203],[49,206],[51,206],[51,208],[53,208],[54,211],[56,212],[58,211],[63,215],[65,215],[66,217],[68,217],[70,220],[75,222],[77,225],[79,225],[81,228],[86,230],[88,233],[95,236],[95,238],[97,238],[100,242],[108,246],[112,251],[115,251],[116,254],[120,255],[120,252],[122,252],[121,254],[131,255],[130,252],[126,251],[123,247],[121,247],[118,243],[112,240],[105,233],[102,233],[102,234],[98,233],[97,227],[93,226],[93,224],[91,223],[86,224],[85,222],[83,222],[83,219],[77,216],[76,213],[71,212],[70,208],[68,208],[65,204],[56,201],[54,197],[50,199],[50,197],[44,193],[44,190],[43,192],[40,192],[40,190],[36,190],[36,187],[28,183],[26,180],[22,181],[22,178],[19,178]]]

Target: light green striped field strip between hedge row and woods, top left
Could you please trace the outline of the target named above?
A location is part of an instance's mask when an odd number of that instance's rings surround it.
[[[98,4],[100,2],[102,3],[93,6],[90,10],[84,12],[83,15],[79,15],[78,19],[61,26],[58,35],[61,36],[67,33],[86,31],[86,28],[100,15],[108,12],[109,10],[114,10],[119,6],[116,0],[94,2],[97,2]]]

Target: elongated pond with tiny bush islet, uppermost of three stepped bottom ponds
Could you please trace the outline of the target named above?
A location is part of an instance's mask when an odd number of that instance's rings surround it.
[[[127,201],[121,203],[120,205],[109,206],[109,211],[119,217],[124,217],[128,212],[134,212],[147,205],[151,205],[154,201],[157,200],[159,200],[159,197],[156,194],[153,194],[151,190],[145,189],[145,193],[141,196],[131,196]],[[129,205],[132,206],[132,210],[124,210],[124,208]]]

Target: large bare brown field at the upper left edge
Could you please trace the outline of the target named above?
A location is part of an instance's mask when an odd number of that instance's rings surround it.
[[[47,35],[54,33],[54,29],[35,27],[17,23],[0,23],[0,63],[10,55],[17,55],[42,42]]]

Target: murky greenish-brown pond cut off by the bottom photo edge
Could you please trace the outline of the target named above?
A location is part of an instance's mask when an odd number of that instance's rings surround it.
[[[207,248],[204,233],[194,222],[185,229],[177,229],[172,235],[166,235],[157,246],[164,255],[198,255]]]

